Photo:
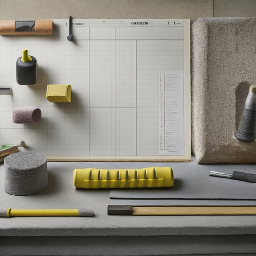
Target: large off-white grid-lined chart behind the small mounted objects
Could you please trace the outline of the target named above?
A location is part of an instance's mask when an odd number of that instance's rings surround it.
[[[54,24],[50,36],[0,37],[0,86],[13,92],[0,94],[2,144],[25,140],[49,160],[190,160],[189,20],[73,20],[72,41],[67,20]],[[38,62],[36,85],[16,82],[24,48]],[[170,104],[159,100],[166,72],[183,75],[166,97],[180,112],[168,118]],[[48,102],[48,84],[70,84],[72,102]],[[39,107],[41,121],[12,123],[12,110],[22,106]],[[179,132],[167,138],[163,119]],[[159,138],[174,150],[163,151]]]

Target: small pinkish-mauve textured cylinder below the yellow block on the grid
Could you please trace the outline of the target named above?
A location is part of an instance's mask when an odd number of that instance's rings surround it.
[[[14,123],[38,123],[41,119],[41,110],[37,107],[20,107],[12,112]]]

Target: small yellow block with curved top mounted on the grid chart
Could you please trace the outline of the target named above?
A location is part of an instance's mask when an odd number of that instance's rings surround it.
[[[49,102],[71,103],[71,85],[47,85],[46,98]]]

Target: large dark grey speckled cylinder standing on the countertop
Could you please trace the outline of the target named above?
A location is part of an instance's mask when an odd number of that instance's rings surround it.
[[[11,195],[32,195],[47,186],[47,158],[20,151],[4,159],[4,189]]]

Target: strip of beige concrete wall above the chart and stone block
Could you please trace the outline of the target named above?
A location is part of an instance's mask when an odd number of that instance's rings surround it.
[[[0,19],[251,17],[256,0],[0,0]]]

